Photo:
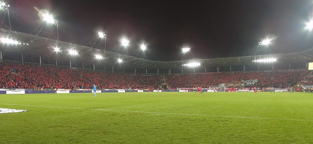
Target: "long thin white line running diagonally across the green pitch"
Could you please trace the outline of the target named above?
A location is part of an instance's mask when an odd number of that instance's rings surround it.
[[[102,111],[120,111],[120,112],[148,113],[148,114],[166,114],[166,115],[183,115],[183,116],[203,116],[203,117],[224,117],[224,118],[242,118],[242,119],[259,119],[259,120],[286,120],[286,121],[309,121],[309,122],[313,122],[313,120],[286,119],[286,118],[260,118],[260,117],[242,117],[242,116],[221,116],[221,115],[201,115],[201,114],[183,114],[183,113],[166,113],[166,112],[146,112],[146,111],[132,111],[132,110],[115,110],[115,109],[102,109],[102,108],[78,108],[78,107],[61,107],[61,106],[43,106],[43,105],[12,104],[12,103],[0,103],[0,104],[35,106],[35,107],[68,108],[68,109],[93,109],[93,110],[102,110]]]

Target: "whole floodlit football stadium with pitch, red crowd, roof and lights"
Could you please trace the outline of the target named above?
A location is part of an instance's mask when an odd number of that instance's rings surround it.
[[[0,2],[0,144],[313,143],[312,45],[274,52],[279,36],[269,36],[251,54],[203,58],[182,46],[159,61],[149,43],[112,47],[104,31],[63,41],[47,10],[32,32],[15,31],[9,4]]]

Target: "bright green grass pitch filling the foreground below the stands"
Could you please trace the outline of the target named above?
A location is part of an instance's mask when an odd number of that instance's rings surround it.
[[[0,95],[0,144],[313,144],[313,93]]]

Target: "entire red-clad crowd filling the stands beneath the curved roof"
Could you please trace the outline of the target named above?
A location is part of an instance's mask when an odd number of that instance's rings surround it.
[[[268,72],[214,72],[201,74],[176,74],[171,76],[141,76],[104,73],[88,70],[65,69],[48,66],[0,62],[0,88],[91,88],[99,89],[159,88],[161,83],[169,87],[209,87],[258,79],[258,87],[289,87],[303,80],[307,70]]]

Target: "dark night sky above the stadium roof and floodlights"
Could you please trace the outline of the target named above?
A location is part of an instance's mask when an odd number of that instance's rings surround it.
[[[313,19],[312,0],[8,0],[12,30],[31,33],[43,21],[38,9],[58,20],[59,40],[81,45],[108,35],[107,50],[131,41],[129,54],[148,44],[149,60],[181,59],[188,46],[197,59],[254,55],[258,42],[275,38],[273,53],[313,46],[305,23]],[[51,30],[51,29],[50,29]],[[99,41],[97,41],[99,42]],[[100,43],[104,47],[104,41]],[[186,54],[188,57],[190,54]],[[140,52],[138,57],[142,57]]]

